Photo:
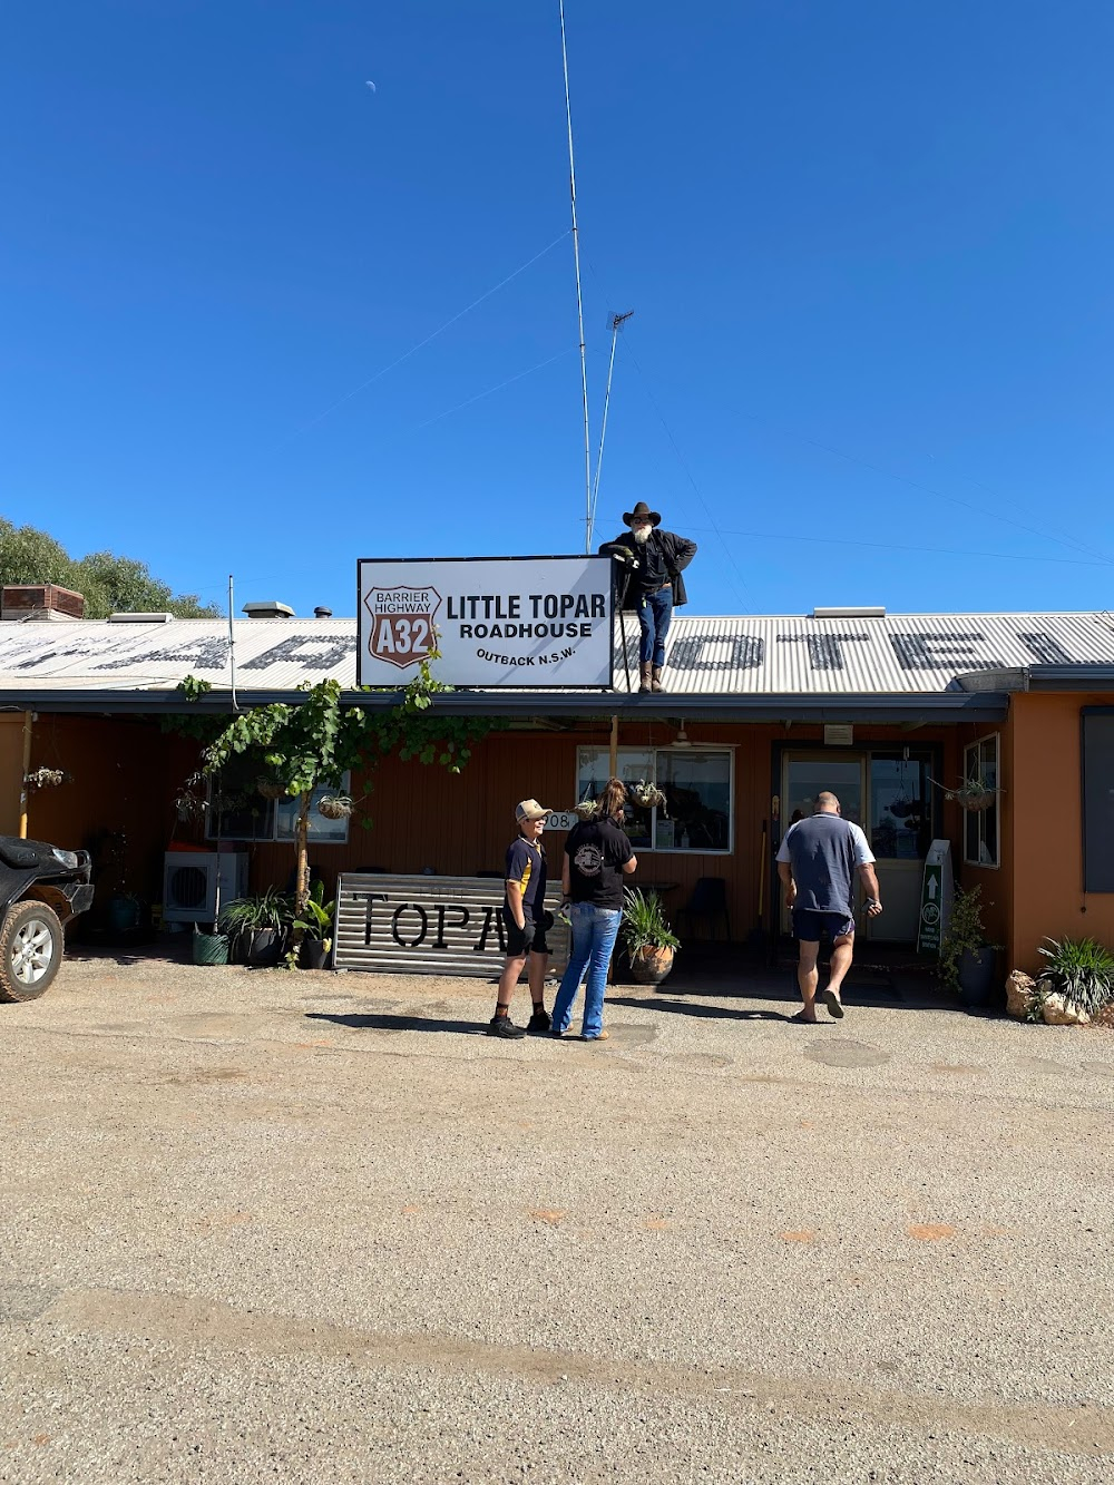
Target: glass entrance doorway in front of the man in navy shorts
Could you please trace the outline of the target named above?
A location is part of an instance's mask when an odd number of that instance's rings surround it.
[[[781,826],[812,814],[821,790],[838,799],[845,820],[861,827],[875,854],[881,918],[859,916],[860,934],[878,943],[913,943],[924,858],[933,841],[931,748],[839,748],[781,756]],[[856,907],[863,894],[856,890]],[[783,933],[790,931],[781,909]]]

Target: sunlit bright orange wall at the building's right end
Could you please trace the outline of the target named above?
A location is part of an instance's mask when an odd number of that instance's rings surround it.
[[[1010,968],[1032,973],[1043,937],[1092,937],[1114,949],[1114,892],[1083,891],[1080,713],[1110,695],[1023,692],[1010,708],[1013,821]]]

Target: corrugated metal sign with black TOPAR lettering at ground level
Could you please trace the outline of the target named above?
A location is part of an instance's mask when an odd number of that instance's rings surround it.
[[[388,876],[343,872],[337,882],[337,970],[400,974],[498,977],[506,956],[504,884],[481,876]],[[569,961],[569,928],[557,909],[560,879],[550,882],[545,907],[550,970]]]

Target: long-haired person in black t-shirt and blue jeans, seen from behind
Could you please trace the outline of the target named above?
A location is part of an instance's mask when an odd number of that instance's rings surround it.
[[[572,950],[553,1007],[553,1031],[557,1037],[569,1029],[572,1002],[585,970],[588,982],[581,1035],[585,1041],[603,1041],[608,1035],[603,1029],[603,995],[622,921],[622,879],[639,864],[621,826],[625,803],[627,786],[619,778],[609,778],[600,794],[597,817],[573,826],[564,842],[561,888],[572,903]]]

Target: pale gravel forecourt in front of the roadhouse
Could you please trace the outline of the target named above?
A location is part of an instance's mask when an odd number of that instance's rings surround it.
[[[0,1007],[0,1481],[1110,1479],[1114,1032],[686,983]]]

